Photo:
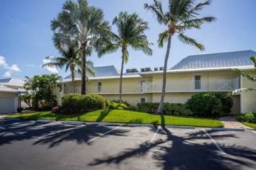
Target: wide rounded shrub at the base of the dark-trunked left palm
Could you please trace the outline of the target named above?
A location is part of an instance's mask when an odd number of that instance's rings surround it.
[[[70,93],[62,97],[60,112],[64,114],[81,114],[95,110],[106,109],[106,99],[96,94]]]

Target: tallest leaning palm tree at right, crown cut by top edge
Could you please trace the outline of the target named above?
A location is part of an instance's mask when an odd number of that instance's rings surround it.
[[[171,39],[175,33],[178,34],[178,39],[184,44],[196,46],[200,50],[205,50],[202,44],[196,42],[195,39],[187,37],[184,32],[188,29],[196,28],[200,29],[200,26],[205,22],[213,22],[214,17],[197,17],[200,10],[205,5],[210,5],[211,1],[204,1],[198,5],[194,5],[193,0],[169,0],[167,12],[163,12],[161,1],[154,0],[153,5],[144,4],[144,9],[150,10],[159,24],[163,24],[167,27],[165,31],[159,34],[158,46],[163,47],[163,42],[167,41],[167,50],[165,54],[165,61],[163,65],[163,86],[161,92],[160,105],[156,113],[160,114],[163,110],[163,99],[165,96],[165,84],[166,84],[166,70],[167,61],[169,58],[169,52],[171,48]]]

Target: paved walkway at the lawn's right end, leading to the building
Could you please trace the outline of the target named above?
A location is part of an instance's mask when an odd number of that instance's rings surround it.
[[[225,116],[219,118],[221,123],[223,123],[224,128],[243,128],[243,129],[253,129],[251,127],[245,126],[236,120],[236,116]]]

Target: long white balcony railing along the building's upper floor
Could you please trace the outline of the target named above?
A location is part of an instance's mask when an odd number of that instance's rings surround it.
[[[161,82],[142,82],[137,86],[131,84],[122,86],[122,93],[158,93],[161,92]],[[165,92],[228,92],[239,88],[239,81],[234,80],[187,80],[187,81],[168,81],[166,82]],[[64,93],[72,93],[72,86],[67,86]],[[75,93],[81,93],[80,87],[75,87]],[[118,94],[118,85],[89,86],[87,93],[96,94]]]

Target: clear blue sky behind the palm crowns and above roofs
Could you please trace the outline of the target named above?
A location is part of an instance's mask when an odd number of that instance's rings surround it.
[[[45,57],[59,56],[51,40],[51,20],[62,9],[64,0],[1,0],[0,1],[0,78],[24,78],[24,76],[43,75],[58,72],[65,77],[70,74],[64,69],[49,70],[41,68]],[[150,12],[144,10],[144,3],[152,0],[89,0],[89,4],[100,7],[105,19],[112,20],[121,11],[137,12],[148,21],[150,30],[146,31],[152,46],[153,56],[129,49],[129,62],[125,69],[162,67],[166,46],[158,48],[158,34],[165,27],[159,25]],[[201,1],[196,1],[199,3]],[[167,0],[163,0],[167,5]],[[204,24],[202,29],[193,29],[186,35],[205,45],[201,52],[194,46],[182,44],[175,37],[171,44],[168,69],[191,54],[207,54],[239,50],[256,50],[256,1],[255,0],[213,0],[211,5],[202,10],[202,16],[214,16],[216,22]],[[113,31],[116,28],[112,27]],[[93,54],[89,59],[95,67],[115,65],[121,68],[121,50],[97,58]]]

